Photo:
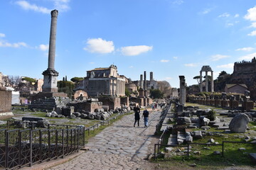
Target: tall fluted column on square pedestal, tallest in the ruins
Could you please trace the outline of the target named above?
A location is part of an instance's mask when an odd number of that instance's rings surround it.
[[[43,72],[43,92],[58,92],[57,77],[58,72],[54,69],[55,62],[55,42],[56,42],[56,28],[58,11],[53,10],[50,12],[50,42],[48,53],[48,69]]]

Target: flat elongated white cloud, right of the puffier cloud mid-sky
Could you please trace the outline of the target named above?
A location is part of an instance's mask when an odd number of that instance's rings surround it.
[[[134,56],[134,55],[140,55],[144,52],[148,52],[152,49],[153,49],[152,46],[137,45],[137,46],[121,47],[121,52],[122,52],[122,55]]]

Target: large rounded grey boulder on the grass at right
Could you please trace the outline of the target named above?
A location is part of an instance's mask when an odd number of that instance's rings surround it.
[[[249,123],[249,117],[245,113],[240,113],[239,115],[236,115],[235,118],[233,118],[230,121],[230,131],[231,132],[245,132],[247,129],[247,123]]]

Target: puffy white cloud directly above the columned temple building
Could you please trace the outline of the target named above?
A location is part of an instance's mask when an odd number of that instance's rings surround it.
[[[87,46],[83,49],[92,53],[110,53],[114,51],[114,43],[102,38],[92,38],[87,40]]]

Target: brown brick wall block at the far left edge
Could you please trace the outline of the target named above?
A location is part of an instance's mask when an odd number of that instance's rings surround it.
[[[6,91],[5,87],[0,87],[0,113],[11,112],[11,91]]]

